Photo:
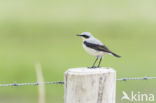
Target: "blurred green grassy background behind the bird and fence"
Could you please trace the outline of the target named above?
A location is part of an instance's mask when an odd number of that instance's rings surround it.
[[[75,36],[86,31],[122,56],[102,62],[118,78],[156,76],[155,11],[155,0],[1,0],[0,84],[36,82],[37,62],[49,82],[63,81],[69,68],[91,66],[95,58]],[[118,81],[117,103],[123,90],[156,95],[155,86],[155,80]],[[63,86],[45,87],[46,103],[63,103]],[[0,87],[0,103],[37,103],[37,98],[37,86]]]

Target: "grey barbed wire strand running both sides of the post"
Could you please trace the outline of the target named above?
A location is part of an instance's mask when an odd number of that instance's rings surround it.
[[[117,81],[129,81],[129,80],[150,80],[150,79],[156,79],[156,77],[123,77],[116,79]],[[38,85],[47,85],[47,84],[64,84],[63,81],[56,81],[56,82],[42,82],[42,83],[10,83],[10,84],[0,84],[0,87],[8,87],[8,86],[38,86]]]

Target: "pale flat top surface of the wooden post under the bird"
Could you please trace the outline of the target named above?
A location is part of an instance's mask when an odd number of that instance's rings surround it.
[[[101,73],[109,73],[109,72],[115,72],[114,69],[110,67],[101,67],[101,68],[71,68],[68,69],[65,73],[69,74],[101,74]]]

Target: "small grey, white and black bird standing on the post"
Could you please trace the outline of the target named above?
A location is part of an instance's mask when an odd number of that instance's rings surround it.
[[[110,49],[108,49],[100,40],[95,38],[90,32],[83,32],[81,34],[77,34],[77,36],[82,37],[83,48],[85,49],[85,51],[88,54],[96,57],[93,65],[89,68],[99,68],[103,56],[107,54],[113,55],[117,58],[121,57],[118,54],[112,52]],[[99,63],[97,66],[95,66],[99,58],[100,58]]]

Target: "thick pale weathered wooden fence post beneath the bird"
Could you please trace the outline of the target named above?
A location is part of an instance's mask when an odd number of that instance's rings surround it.
[[[64,76],[65,103],[115,103],[115,70],[73,68]]]

